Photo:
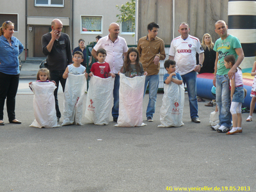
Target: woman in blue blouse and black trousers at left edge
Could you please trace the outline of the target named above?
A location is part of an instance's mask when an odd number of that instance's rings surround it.
[[[10,20],[0,28],[0,125],[4,125],[4,100],[11,124],[21,124],[15,118],[15,97],[19,86],[19,54],[24,47],[13,36],[14,24]]]

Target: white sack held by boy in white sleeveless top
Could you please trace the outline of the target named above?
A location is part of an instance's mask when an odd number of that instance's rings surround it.
[[[82,125],[83,99],[86,90],[84,74],[68,74],[64,92],[64,111],[62,125]]]

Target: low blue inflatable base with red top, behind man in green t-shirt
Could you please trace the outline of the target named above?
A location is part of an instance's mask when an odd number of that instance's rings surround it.
[[[252,91],[253,76],[251,76],[252,68],[243,68],[243,83],[244,88],[247,90],[247,95],[244,98],[243,107],[250,108],[252,97],[250,93]],[[212,81],[214,74],[204,73],[198,74],[196,78],[196,95],[202,98],[214,99],[212,95]]]

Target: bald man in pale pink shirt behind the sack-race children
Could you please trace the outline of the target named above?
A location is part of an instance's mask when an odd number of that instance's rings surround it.
[[[92,56],[97,59],[96,52],[103,48],[107,51],[106,62],[109,63],[111,73],[115,74],[115,84],[113,90],[114,106],[112,108],[113,121],[117,122],[119,110],[119,81],[118,71],[124,65],[123,56],[125,58],[128,47],[124,38],[118,36],[120,27],[113,22],[109,25],[109,35],[100,38],[95,47],[92,49]]]

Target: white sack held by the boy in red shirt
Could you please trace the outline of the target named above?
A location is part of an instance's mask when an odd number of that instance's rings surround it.
[[[113,107],[114,83],[113,77],[91,77],[84,114],[87,124],[108,125]]]

